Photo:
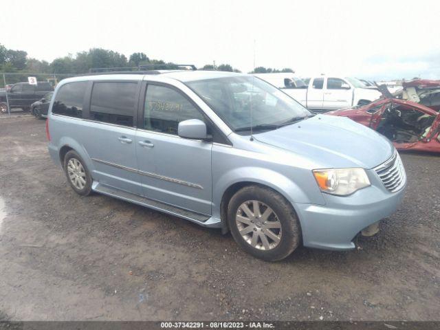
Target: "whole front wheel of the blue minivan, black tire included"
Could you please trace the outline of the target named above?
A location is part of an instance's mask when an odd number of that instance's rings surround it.
[[[228,203],[228,224],[236,243],[265,261],[284,259],[301,240],[292,205],[274,190],[262,186],[247,186],[232,196]]]

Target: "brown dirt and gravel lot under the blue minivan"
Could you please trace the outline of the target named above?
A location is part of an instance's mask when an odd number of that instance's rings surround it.
[[[0,319],[440,320],[440,157],[403,154],[400,210],[351,252],[245,254],[230,234],[80,197],[45,123],[0,118]]]

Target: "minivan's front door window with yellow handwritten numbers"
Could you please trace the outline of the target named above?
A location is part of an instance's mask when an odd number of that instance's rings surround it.
[[[145,97],[144,129],[177,135],[179,122],[203,120],[203,115],[178,91],[148,85]]]

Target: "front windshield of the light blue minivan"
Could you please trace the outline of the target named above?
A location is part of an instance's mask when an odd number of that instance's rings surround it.
[[[254,76],[186,83],[236,132],[277,129],[312,114],[283,91]]]

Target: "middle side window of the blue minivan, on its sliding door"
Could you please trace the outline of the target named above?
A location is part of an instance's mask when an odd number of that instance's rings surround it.
[[[90,119],[122,126],[133,126],[137,82],[94,83],[91,91]]]

